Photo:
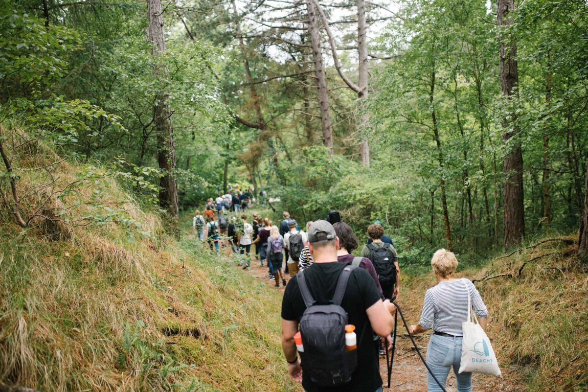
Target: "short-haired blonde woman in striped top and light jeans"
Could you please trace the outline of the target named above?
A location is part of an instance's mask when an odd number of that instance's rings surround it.
[[[410,326],[409,331],[415,334],[433,329],[435,333],[429,341],[427,365],[442,384],[446,383],[449,370],[453,367],[457,378],[457,391],[471,392],[472,373],[458,373],[462,357],[462,323],[467,321],[469,313],[467,298],[472,299],[472,308],[484,330],[488,311],[476,286],[469,279],[453,277],[457,268],[455,254],[449,250],[439,249],[433,254],[431,266],[438,283],[427,290],[419,324]],[[427,391],[441,391],[429,372]]]

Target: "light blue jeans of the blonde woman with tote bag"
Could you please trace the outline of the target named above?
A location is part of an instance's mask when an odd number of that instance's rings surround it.
[[[472,373],[458,373],[459,363],[462,359],[462,340],[462,337],[431,335],[427,348],[427,365],[443,386],[445,386],[449,370],[453,366],[453,373],[457,378],[457,392],[472,392]],[[427,391],[441,392],[441,388],[428,371]]]

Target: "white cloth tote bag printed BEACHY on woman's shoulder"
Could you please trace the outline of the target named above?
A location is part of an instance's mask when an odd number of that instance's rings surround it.
[[[465,280],[463,280],[463,284],[467,290],[467,309],[469,311],[467,312],[467,321],[462,323],[462,360],[460,361],[459,373],[466,371],[502,377],[492,344],[480,324],[477,323],[476,313],[472,309],[472,298]],[[476,320],[475,323],[473,323],[472,315]]]

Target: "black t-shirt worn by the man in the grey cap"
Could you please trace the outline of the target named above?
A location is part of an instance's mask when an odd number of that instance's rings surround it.
[[[304,277],[310,294],[318,304],[328,304],[335,294],[339,275],[346,263],[313,263],[304,270]],[[380,300],[380,293],[368,272],[353,270],[341,306],[348,313],[349,324],[355,325],[358,337],[358,367],[348,384],[338,387],[319,387],[310,381],[310,374],[304,371],[302,362],[302,386],[308,392],[373,392],[382,386],[382,377],[377,361],[377,349],[373,341],[372,326],[366,309]],[[282,300],[282,319],[300,321],[306,305],[298,288],[296,277],[286,286]]]

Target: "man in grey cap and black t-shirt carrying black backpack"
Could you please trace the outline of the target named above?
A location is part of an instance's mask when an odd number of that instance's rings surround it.
[[[288,373],[307,392],[380,392],[373,333],[390,335],[396,308],[382,301],[368,272],[337,262],[339,239],[330,223],[318,220],[307,234],[315,262],[290,280],[282,300]],[[346,350],[345,324],[355,326],[356,349]],[[294,341],[299,327],[300,359]]]

